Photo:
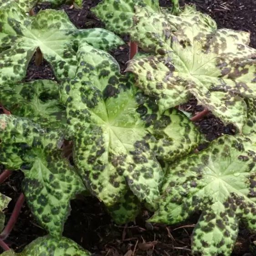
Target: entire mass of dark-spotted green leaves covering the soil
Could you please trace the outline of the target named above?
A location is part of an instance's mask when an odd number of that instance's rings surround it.
[[[156,210],[150,221],[177,223],[201,210],[192,249],[205,256],[231,253],[239,220],[254,228],[255,50],[246,33],[217,30],[209,16],[174,2],[169,10],[154,0],[104,0],[94,9],[148,53],[135,56],[125,75],[103,51],[123,43],[113,33],[78,30],[61,11],[27,17],[34,1],[0,5],[0,102],[11,112],[0,115],[0,162],[25,174],[27,204],[49,233],[21,256],[90,255],[61,237],[70,200],[85,191],[117,223],[133,220],[142,202]],[[38,47],[59,83],[18,83]],[[190,94],[247,136],[224,136],[189,154],[202,136],[174,107]],[[74,166],[63,154],[67,140]],[[9,201],[2,195],[0,209]]]

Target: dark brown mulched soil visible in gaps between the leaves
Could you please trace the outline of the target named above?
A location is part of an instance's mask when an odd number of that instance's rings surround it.
[[[70,9],[69,5],[62,5],[59,10],[65,10],[77,28],[104,27],[91,12],[90,8],[97,5],[99,0],[85,0],[82,10]],[[256,1],[255,0],[180,0],[181,4],[195,3],[198,10],[208,13],[214,18],[219,28],[225,27],[235,30],[251,31],[250,46],[256,48]],[[161,6],[171,5],[170,0],[160,0]],[[35,11],[50,8],[49,4],[36,6]],[[128,42],[128,36],[123,37]],[[122,46],[112,51],[122,71],[128,61],[129,48]],[[55,79],[49,64],[43,61],[39,67],[31,61],[25,81],[35,79]],[[198,113],[203,110],[197,105],[195,99],[191,99],[183,108],[190,113]],[[196,122],[200,130],[209,140],[213,140],[223,134],[234,134],[232,126],[225,127],[223,123],[211,113]],[[204,148],[202,146],[201,148]],[[199,149],[201,149],[199,148]],[[4,166],[0,166],[3,170]],[[6,223],[10,218],[15,202],[18,199],[23,179],[21,172],[14,172],[0,186],[0,193],[12,198],[7,210],[5,210]],[[85,249],[102,256],[131,256],[135,251],[137,256],[188,256],[190,251],[190,235],[199,215],[195,214],[179,225],[151,225],[146,220],[151,215],[143,210],[135,221],[128,225],[115,225],[103,205],[94,198],[80,198],[72,200],[72,212],[64,227],[63,236],[76,241]],[[26,203],[23,206],[17,223],[5,240],[8,246],[17,252],[24,246],[45,235],[46,232],[36,224]],[[232,256],[255,256],[256,235],[251,234],[243,225],[240,226],[239,237]],[[148,250],[143,243],[150,243]],[[129,251],[131,250],[131,251]],[[0,251],[1,252],[1,251]],[[130,253],[130,254],[129,254]]]

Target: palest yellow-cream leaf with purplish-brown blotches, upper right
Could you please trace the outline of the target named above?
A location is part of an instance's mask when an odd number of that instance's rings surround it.
[[[194,95],[200,105],[241,131],[246,122],[241,97],[256,97],[256,60],[251,59],[256,50],[248,46],[250,34],[216,30],[214,21],[204,15],[191,23],[191,14],[176,17],[174,24],[164,13],[138,6],[136,10],[132,40],[153,54],[128,63],[126,71],[136,74],[138,87],[158,100],[161,112]]]

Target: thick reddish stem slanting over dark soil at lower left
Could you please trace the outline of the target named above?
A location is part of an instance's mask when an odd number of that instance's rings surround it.
[[[20,215],[20,209],[21,209],[24,201],[25,201],[24,194],[21,193],[16,204],[15,204],[13,212],[10,216],[10,220],[8,221],[7,225],[5,226],[5,229],[0,234],[0,239],[5,240],[9,236],[11,230],[13,229],[13,227]]]

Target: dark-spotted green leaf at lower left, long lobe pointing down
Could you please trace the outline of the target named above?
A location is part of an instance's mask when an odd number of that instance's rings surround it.
[[[47,132],[27,118],[5,114],[0,124],[1,145],[8,149],[4,157],[14,160],[5,162],[25,174],[22,187],[31,212],[51,236],[60,238],[70,200],[85,190],[76,169],[62,156],[62,131]]]

